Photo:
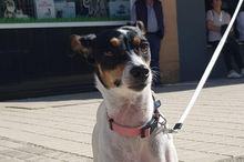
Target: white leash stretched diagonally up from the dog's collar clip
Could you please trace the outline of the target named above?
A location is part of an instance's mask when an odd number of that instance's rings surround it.
[[[226,31],[224,32],[224,36],[222,37],[222,39],[221,39],[221,41],[220,41],[220,43],[218,43],[216,50],[214,51],[214,54],[213,54],[213,57],[211,58],[211,61],[210,61],[210,63],[207,64],[206,70],[204,71],[203,77],[201,78],[200,83],[197,84],[196,90],[195,90],[194,94],[192,95],[191,101],[189,102],[189,105],[186,107],[186,109],[185,109],[183,115],[181,117],[181,119],[179,120],[179,122],[174,125],[174,128],[167,130],[169,133],[176,133],[179,130],[181,130],[185,118],[186,118],[187,114],[190,113],[190,111],[191,111],[191,109],[192,109],[192,107],[193,107],[193,104],[194,104],[196,98],[199,97],[199,94],[200,94],[200,92],[201,92],[203,85],[205,84],[205,82],[206,82],[206,80],[207,80],[207,78],[209,78],[209,75],[210,75],[210,73],[211,73],[211,71],[212,71],[212,69],[213,69],[213,67],[214,67],[214,64],[215,64],[215,62],[216,62],[218,55],[220,55],[220,53],[221,53],[221,50],[222,50],[223,47],[224,47],[224,43],[225,43],[225,41],[226,41],[226,39],[227,39],[227,36],[228,36],[228,33],[230,33],[230,31],[231,31],[231,28],[232,28],[233,24],[234,24],[234,21],[235,21],[236,17],[237,17],[237,13],[238,13],[240,8],[242,7],[242,3],[243,3],[243,0],[240,0],[237,7],[236,7],[236,9],[235,9],[235,12],[234,12],[234,14],[233,14],[233,17],[232,17],[232,19],[231,19],[231,22],[228,23],[228,27],[227,27]]]

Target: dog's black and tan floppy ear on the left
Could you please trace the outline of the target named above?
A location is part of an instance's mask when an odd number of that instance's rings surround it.
[[[93,42],[96,39],[95,34],[87,34],[87,36],[77,36],[72,34],[70,37],[70,57],[74,55],[77,52],[81,53],[84,58],[87,58],[89,63],[94,64],[94,55],[93,55]]]

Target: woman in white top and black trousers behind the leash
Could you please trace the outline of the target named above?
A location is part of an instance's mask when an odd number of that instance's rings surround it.
[[[206,28],[209,30],[209,42],[214,48],[216,48],[220,40],[222,39],[222,27],[226,27],[230,23],[231,16],[227,12],[221,10],[222,0],[211,0],[211,3],[213,9],[206,12]],[[231,32],[233,32],[233,28]],[[225,42],[222,53],[224,55],[224,62],[227,68],[227,78],[243,78],[244,65],[238,47],[233,45],[231,42]],[[233,70],[232,55],[238,69],[241,70],[240,74]]]

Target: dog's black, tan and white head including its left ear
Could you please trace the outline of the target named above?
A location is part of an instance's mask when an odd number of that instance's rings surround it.
[[[151,87],[151,52],[142,22],[108,30],[98,36],[71,36],[70,49],[96,67],[105,89],[140,92]]]

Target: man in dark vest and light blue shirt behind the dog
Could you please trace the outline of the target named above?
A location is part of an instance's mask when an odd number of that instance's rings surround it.
[[[161,84],[160,48],[165,34],[163,7],[159,0],[136,0],[131,10],[131,21],[142,21],[150,43],[151,68],[155,72],[154,84]]]

